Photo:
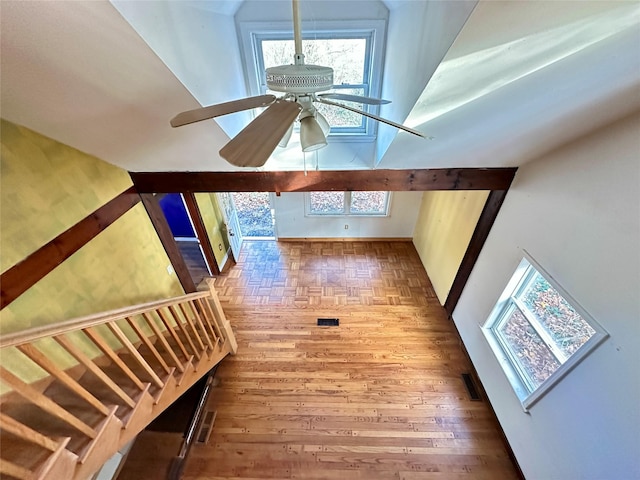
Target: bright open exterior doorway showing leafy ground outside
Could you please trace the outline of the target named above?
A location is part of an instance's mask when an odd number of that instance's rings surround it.
[[[231,196],[238,214],[240,230],[245,238],[276,238],[275,216],[269,192],[234,192]]]

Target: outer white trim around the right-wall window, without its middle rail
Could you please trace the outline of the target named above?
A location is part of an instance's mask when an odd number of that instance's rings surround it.
[[[540,264],[538,264],[538,262],[536,262],[526,251],[523,252],[523,254],[524,258],[520,261],[520,264],[516,268],[510,281],[507,283],[502,295],[500,295],[500,298],[491,311],[487,321],[481,326],[481,328],[489,346],[498,360],[498,363],[502,367],[502,370],[513,387],[516,396],[520,400],[523,410],[528,412],[538,400],[540,400],[565,375],[573,370],[578,363],[580,363],[598,345],[600,345],[609,336],[609,334],[571,295],[569,295],[569,293],[567,293],[564,288],[562,288],[562,286],[556,282],[556,280],[544,268],[540,266]],[[524,373],[519,372],[519,362],[511,358],[512,354],[510,350],[502,345],[500,338],[497,337],[493,331],[493,327],[499,325],[500,322],[510,313],[511,310],[509,305],[511,304],[511,297],[518,292],[523,282],[526,281],[526,277],[528,276],[526,275],[526,272],[530,266],[537,270],[595,331],[592,337],[584,345],[573,353],[573,355],[562,363],[553,374],[551,374],[540,386],[538,386],[538,388],[535,389],[533,389],[532,385],[528,384],[526,380],[527,376]],[[535,328],[535,325],[533,326]],[[542,338],[544,339],[545,336],[543,335]]]

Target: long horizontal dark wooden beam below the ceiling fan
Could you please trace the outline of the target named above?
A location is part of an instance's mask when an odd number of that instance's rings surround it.
[[[141,193],[505,190],[516,168],[130,172]]]

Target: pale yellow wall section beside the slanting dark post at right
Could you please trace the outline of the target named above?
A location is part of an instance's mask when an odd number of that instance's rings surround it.
[[[413,243],[444,304],[469,245],[487,191],[424,192]]]

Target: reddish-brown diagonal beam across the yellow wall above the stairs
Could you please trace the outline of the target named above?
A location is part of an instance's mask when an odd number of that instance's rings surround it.
[[[0,277],[0,308],[6,307],[39,282],[139,201],[140,196],[135,187],[125,190],[20,263],[9,268]]]

